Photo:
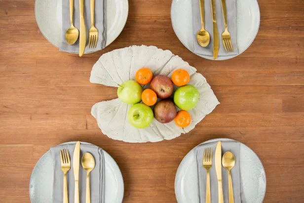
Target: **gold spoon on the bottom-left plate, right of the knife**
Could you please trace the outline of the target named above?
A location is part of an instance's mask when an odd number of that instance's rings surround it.
[[[86,170],[86,195],[85,195],[85,203],[91,203],[90,196],[90,172],[95,167],[94,157],[90,153],[84,153],[81,158],[81,165],[84,170]]]

